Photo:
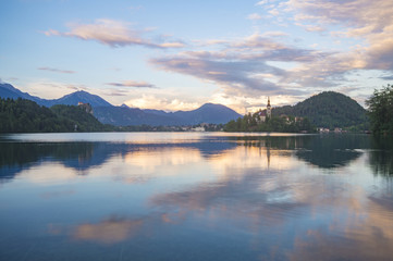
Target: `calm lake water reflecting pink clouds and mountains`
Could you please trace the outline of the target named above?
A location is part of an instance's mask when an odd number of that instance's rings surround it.
[[[392,260],[393,142],[0,136],[0,260]]]

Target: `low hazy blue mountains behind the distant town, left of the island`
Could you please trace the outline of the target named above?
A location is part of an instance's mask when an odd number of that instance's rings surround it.
[[[196,125],[200,123],[228,123],[242,115],[234,110],[221,105],[206,103],[193,111],[164,112],[161,110],[140,110],[126,107],[97,107],[94,115],[102,123],[116,126],[126,125],[151,125],[151,126],[180,126]]]

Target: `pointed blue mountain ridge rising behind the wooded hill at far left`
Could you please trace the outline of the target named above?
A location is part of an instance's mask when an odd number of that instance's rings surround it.
[[[51,107],[56,104],[65,104],[65,105],[77,105],[78,102],[90,103],[91,107],[112,107],[111,103],[106,101],[99,96],[91,95],[89,92],[79,90],[72,92],[70,95],[63,96],[60,99],[47,100],[41,99],[35,96],[30,96],[27,92],[22,92],[10,84],[0,84],[0,98],[7,99],[26,99],[33,100],[40,105]]]

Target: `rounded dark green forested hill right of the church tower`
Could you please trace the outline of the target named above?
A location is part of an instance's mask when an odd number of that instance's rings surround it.
[[[318,127],[367,127],[366,110],[349,97],[323,91],[312,96],[296,105],[272,109],[273,115],[293,115],[308,117]]]

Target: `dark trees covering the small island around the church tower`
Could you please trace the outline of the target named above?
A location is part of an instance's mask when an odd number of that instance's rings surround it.
[[[224,132],[314,133],[316,130],[307,117],[272,116],[263,121],[260,112],[248,113],[226,123]]]

